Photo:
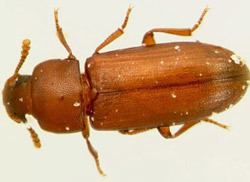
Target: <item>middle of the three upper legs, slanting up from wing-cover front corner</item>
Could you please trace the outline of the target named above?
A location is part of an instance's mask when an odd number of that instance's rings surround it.
[[[113,42],[115,39],[117,39],[118,37],[120,37],[123,33],[124,33],[124,29],[127,26],[128,23],[128,18],[129,15],[131,13],[132,8],[129,7],[127,10],[127,14],[126,17],[123,21],[123,24],[121,26],[121,28],[118,28],[115,32],[113,32],[111,35],[109,35],[95,50],[94,54],[98,54],[98,52],[104,48],[105,46],[107,46],[108,44],[110,44],[111,42]]]

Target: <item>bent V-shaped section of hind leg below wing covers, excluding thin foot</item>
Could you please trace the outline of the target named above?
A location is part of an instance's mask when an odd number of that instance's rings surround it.
[[[158,127],[158,131],[164,138],[176,138],[199,122],[200,121],[188,121],[183,124],[183,126],[175,134],[171,133],[169,126]]]

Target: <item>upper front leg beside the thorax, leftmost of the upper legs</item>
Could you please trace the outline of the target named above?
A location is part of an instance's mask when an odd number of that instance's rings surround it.
[[[56,31],[57,31],[57,37],[59,38],[60,42],[62,43],[62,45],[65,47],[65,49],[68,51],[69,53],[69,58],[70,59],[75,59],[75,56],[73,55],[65,37],[62,31],[62,28],[59,25],[59,19],[58,19],[58,9],[54,10],[54,16],[55,16],[55,23],[56,23]]]

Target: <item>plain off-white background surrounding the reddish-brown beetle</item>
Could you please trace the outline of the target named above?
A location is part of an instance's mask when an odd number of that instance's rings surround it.
[[[0,87],[15,69],[24,38],[30,38],[32,44],[21,73],[30,74],[43,60],[67,56],[55,34],[54,8],[60,8],[61,25],[82,66],[97,45],[121,25],[129,4],[134,8],[125,35],[105,50],[138,46],[143,33],[153,27],[191,27],[208,5],[211,9],[205,21],[191,38],[160,35],[157,40],[200,40],[221,45],[234,50],[249,65],[249,2],[0,0]],[[123,136],[91,130],[91,140],[107,173],[103,178],[97,173],[80,133],[48,133],[28,117],[43,143],[41,150],[34,149],[27,131],[11,121],[1,104],[0,181],[248,182],[249,106],[247,93],[235,107],[214,117],[230,125],[230,131],[201,123],[174,140],[163,139],[157,131]]]

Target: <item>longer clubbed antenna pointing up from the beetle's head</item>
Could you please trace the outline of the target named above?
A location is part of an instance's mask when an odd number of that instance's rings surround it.
[[[31,43],[31,41],[29,39],[23,40],[21,58],[19,60],[18,65],[16,66],[15,72],[12,76],[12,78],[14,80],[18,77],[18,72],[19,72],[20,68],[22,67],[24,61],[26,60],[27,56],[29,55],[30,43]]]

